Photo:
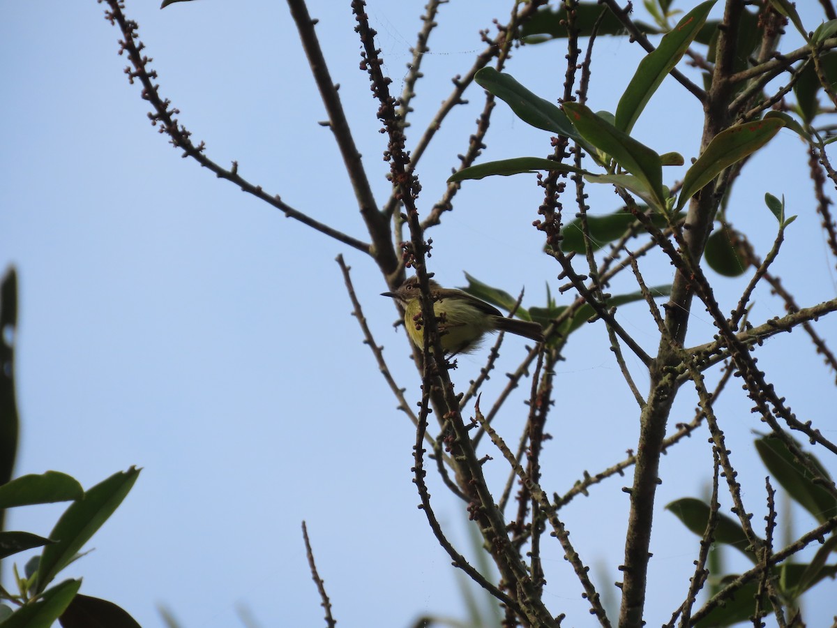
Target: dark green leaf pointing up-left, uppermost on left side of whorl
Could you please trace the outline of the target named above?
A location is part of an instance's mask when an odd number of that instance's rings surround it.
[[[557,105],[533,94],[511,75],[501,74],[494,68],[485,67],[474,75],[474,80],[497,98],[505,100],[506,105],[511,107],[511,111],[531,126],[572,137],[575,140],[581,139],[573,125],[567,120],[567,115]]]

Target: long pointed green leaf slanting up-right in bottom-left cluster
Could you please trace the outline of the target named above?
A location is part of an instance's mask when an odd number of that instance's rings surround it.
[[[74,554],[90,540],[108,517],[121,504],[139,475],[136,467],[120,471],[85,492],[84,497],[69,505],[55,524],[48,545],[41,554],[35,591],[43,591],[61,569],[69,564]]]

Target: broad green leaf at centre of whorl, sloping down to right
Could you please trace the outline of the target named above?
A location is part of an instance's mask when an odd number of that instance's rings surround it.
[[[624,131],[575,102],[564,103],[564,111],[585,140],[614,158],[619,166],[633,174],[649,189],[652,205],[665,208],[663,169],[660,155],[637,142]]]

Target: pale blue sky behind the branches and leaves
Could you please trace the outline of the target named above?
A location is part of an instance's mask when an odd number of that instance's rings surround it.
[[[803,13],[810,28],[819,23],[813,4]],[[463,5],[443,7],[408,142],[449,93],[449,78],[464,73],[483,48],[478,29],[508,14],[506,3]],[[423,7],[369,3],[398,90]],[[116,602],[144,626],[162,625],[157,605],[188,628],[242,625],[241,607],[262,626],[321,625],[300,533],[304,519],[340,625],[406,626],[422,613],[464,616],[449,559],[416,507],[413,427],[395,409],[362,344],[334,259],[342,254],[352,266],[377,342],[386,347],[408,399],[418,400],[408,344],[391,327],[392,304],[378,296],[385,285],[376,267],[172,150],[149,125],[138,87],[122,75],[121,35],[102,19],[103,8],[92,0],[0,7],[0,72],[7,85],[0,102],[0,263],[18,267],[21,286],[18,475],[54,469],[87,487],[131,465],[143,468],[90,544],[95,551],[66,574],[83,576],[82,592]],[[332,76],[383,202],[383,136],[367,77],[358,69],[348,3],[316,2],[310,9],[321,20],[317,31]],[[155,2],[129,0],[126,12],[140,23],[162,94],[182,111],[194,138],[207,142],[210,157],[222,165],[238,160],[245,178],[364,239],[331,134],[317,124],[325,112],[284,3],[202,0],[160,11]],[[792,34],[788,39],[789,48],[798,45]],[[562,91],[563,54],[561,44],[520,49],[508,71],[554,100]],[[614,111],[640,58],[626,39],[600,40],[590,92],[594,110]],[[480,93],[466,97],[478,106]],[[688,162],[700,141],[700,113],[666,80],[634,134],[660,152],[681,152]],[[420,211],[444,189],[476,115],[473,106],[462,107],[444,122],[439,144],[419,167]],[[550,152],[548,135],[504,105],[491,128],[484,159]],[[737,228],[763,255],[775,234],[763,193],[784,194],[788,212],[799,218],[776,268],[789,286],[805,278],[794,286],[800,304],[833,298],[834,260],[819,233],[804,147],[782,131],[750,171],[733,196]],[[682,171],[667,176],[673,183]],[[450,286],[464,284],[463,271],[512,292],[525,285],[524,304],[542,304],[547,283],[554,293],[562,282],[531,227],[539,202],[531,176],[465,185],[456,210],[431,234],[431,270]],[[604,189],[591,194],[591,205],[601,214],[616,208]],[[643,270],[649,283],[670,281],[670,266],[660,258],[650,258]],[[711,276],[719,300],[732,309],[747,277]],[[631,290],[629,281],[614,286],[614,293]],[[757,291],[756,301],[755,322],[783,312],[766,289]],[[646,349],[655,348],[644,306],[625,307],[620,315]],[[827,317],[818,325],[834,337]],[[712,333],[708,315],[693,312],[691,341],[704,342]],[[773,373],[799,416],[819,420],[834,436],[834,373],[819,368],[800,337],[768,341],[759,364]],[[507,340],[485,401],[496,396],[502,373],[516,367],[523,351],[522,341]],[[459,389],[484,358],[460,359],[454,373]],[[630,366],[639,372],[639,363]],[[644,389],[647,382],[638,379]],[[556,382],[545,483],[562,493],[584,470],[599,471],[624,457],[636,440],[637,413],[603,327],[573,337]],[[518,392],[497,423],[510,438],[525,420]],[[684,390],[673,420],[691,420],[694,404]],[[745,499],[761,512],[766,471],[751,444],[751,430],[761,425],[749,406],[732,386],[723,420],[735,460],[747,469]],[[662,507],[705,492],[711,461],[705,436],[663,459],[652,624],[668,620],[676,604],[671,600],[681,600],[688,586],[698,540]],[[489,475],[502,482],[497,458]],[[431,482],[439,517],[452,538],[467,543],[462,504],[435,478]],[[629,479],[608,481],[562,511],[603,592],[613,592],[610,584],[619,578],[625,483]],[[9,525],[45,535],[61,510],[18,509]],[[799,512],[794,525],[810,528],[813,518]],[[587,605],[560,548],[546,548],[544,559],[547,603],[583,625]],[[809,624],[820,625],[832,613],[812,605]]]

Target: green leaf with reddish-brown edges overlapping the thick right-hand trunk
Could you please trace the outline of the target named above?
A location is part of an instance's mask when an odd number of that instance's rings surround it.
[[[769,117],[731,126],[718,133],[709,142],[709,146],[701,157],[698,157],[686,172],[677,209],[682,209],[691,197],[700,192],[725,168],[740,162],[744,157],[770,142],[783,126],[784,121],[781,118]]]

